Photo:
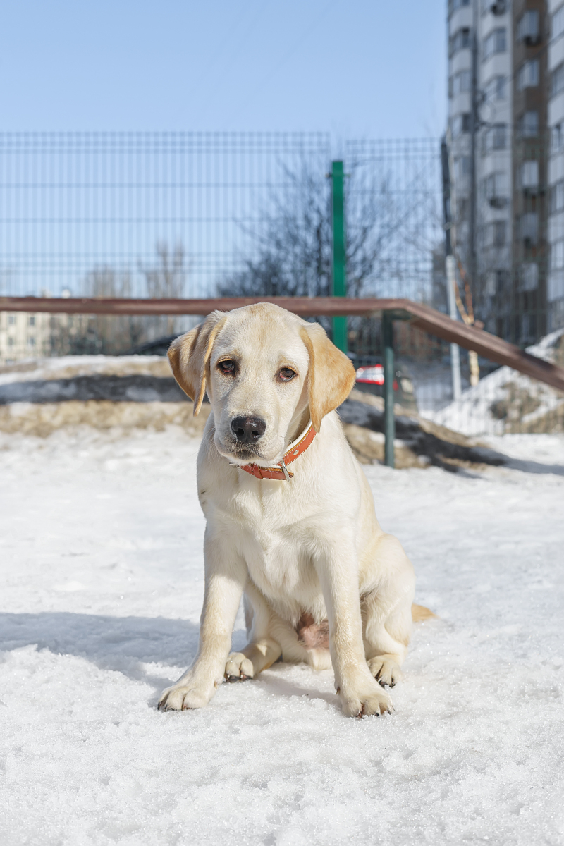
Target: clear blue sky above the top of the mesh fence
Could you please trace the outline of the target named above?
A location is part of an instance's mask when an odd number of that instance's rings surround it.
[[[445,0],[13,0],[0,129],[440,135]]]

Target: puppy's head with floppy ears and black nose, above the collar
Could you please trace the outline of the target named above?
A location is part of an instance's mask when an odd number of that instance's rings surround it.
[[[240,464],[280,461],[300,421],[309,415],[320,431],[354,384],[353,365],[323,327],[268,303],[213,311],[172,342],[168,358],[194,415],[207,392],[216,448]]]

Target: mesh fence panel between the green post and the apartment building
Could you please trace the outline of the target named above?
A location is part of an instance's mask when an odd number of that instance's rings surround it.
[[[441,305],[444,291],[433,288],[434,260],[444,265],[439,140],[351,140],[345,150],[349,286]]]

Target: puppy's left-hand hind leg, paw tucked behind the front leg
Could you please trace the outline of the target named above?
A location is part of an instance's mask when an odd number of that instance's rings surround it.
[[[270,636],[271,609],[249,581],[245,585],[244,611],[249,643],[242,651],[227,656],[225,678],[229,682],[255,678],[282,655],[282,646]]]

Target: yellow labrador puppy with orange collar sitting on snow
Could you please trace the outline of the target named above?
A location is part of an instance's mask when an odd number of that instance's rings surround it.
[[[192,667],[159,707],[205,706],[224,678],[284,661],[333,667],[351,717],[392,711],[412,627],[413,567],[376,519],[335,409],[354,384],[317,323],[277,305],[214,311],[168,353],[212,414],[198,456],[205,598]],[[244,593],[249,644],[229,654]]]

